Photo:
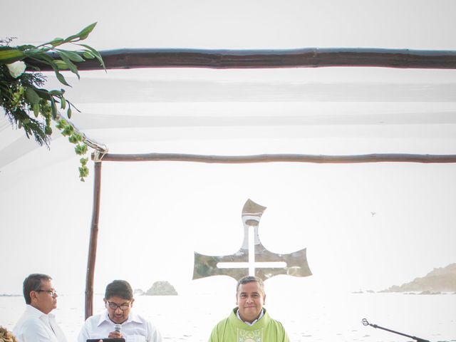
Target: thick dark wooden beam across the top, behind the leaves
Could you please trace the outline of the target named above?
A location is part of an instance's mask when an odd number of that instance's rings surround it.
[[[301,48],[293,50],[197,50],[124,48],[100,51],[107,69],[129,68],[321,68],[334,66],[455,69],[456,51],[386,48]],[[55,55],[54,55],[55,56]],[[41,71],[49,66],[27,61]],[[81,71],[103,69],[88,60]]]

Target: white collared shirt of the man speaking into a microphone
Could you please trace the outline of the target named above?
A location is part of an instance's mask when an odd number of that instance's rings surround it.
[[[109,319],[108,311],[90,316],[81,328],[78,342],[86,342],[88,338],[107,338],[114,331],[114,322]],[[126,342],[161,342],[160,331],[152,322],[130,311],[127,321],[122,323],[122,334]]]

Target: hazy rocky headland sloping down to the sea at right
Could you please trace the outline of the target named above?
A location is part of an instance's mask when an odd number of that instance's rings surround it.
[[[422,278],[380,292],[420,292],[421,294],[456,293],[456,264],[433,269]]]

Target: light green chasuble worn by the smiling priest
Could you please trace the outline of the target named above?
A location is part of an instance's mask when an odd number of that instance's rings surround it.
[[[212,330],[209,342],[289,342],[284,326],[272,319],[264,309],[264,316],[253,326],[236,316],[233,309],[228,318],[220,321]]]

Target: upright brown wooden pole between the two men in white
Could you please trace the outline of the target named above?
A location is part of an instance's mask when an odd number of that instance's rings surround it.
[[[98,153],[98,152],[97,152]],[[100,217],[101,195],[101,161],[95,160],[95,175],[93,182],[93,212],[92,226],[90,229],[90,242],[86,274],[86,319],[93,315],[93,275],[95,273],[95,260],[98,242],[98,221]]]

